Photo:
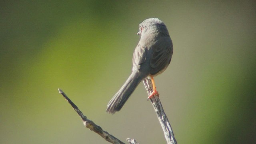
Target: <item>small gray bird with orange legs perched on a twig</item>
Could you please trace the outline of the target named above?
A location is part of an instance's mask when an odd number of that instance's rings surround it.
[[[159,95],[153,77],[162,73],[170,64],[173,52],[172,40],[165,24],[158,18],[144,20],[139,25],[139,30],[140,41],[132,57],[132,74],[108,102],[106,110],[108,113],[114,114],[119,111],[146,77],[151,78],[154,89],[148,99]]]

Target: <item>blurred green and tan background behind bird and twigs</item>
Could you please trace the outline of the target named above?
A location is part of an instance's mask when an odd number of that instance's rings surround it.
[[[132,69],[138,24],[159,18],[174,54],[155,78],[179,144],[256,142],[256,2],[5,1],[0,143],[106,144],[58,93],[122,141],[164,144],[143,84],[105,112]]]

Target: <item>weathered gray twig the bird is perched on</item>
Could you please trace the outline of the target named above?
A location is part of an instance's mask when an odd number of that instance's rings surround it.
[[[143,83],[145,85],[146,91],[148,92],[148,95],[150,95],[153,91],[151,80],[148,78],[145,78],[143,80]],[[166,139],[167,144],[177,144],[177,141],[174,138],[172,127],[169,123],[169,120],[166,114],[164,113],[164,108],[162,107],[160,99],[158,98],[158,96],[154,96],[153,98],[150,98],[150,101],[154,107],[157,118],[164,131],[164,137]]]

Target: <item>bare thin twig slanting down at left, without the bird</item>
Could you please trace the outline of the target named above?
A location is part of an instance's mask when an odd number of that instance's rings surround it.
[[[94,122],[92,122],[91,120],[87,119],[86,116],[84,116],[84,114],[79,110],[79,108],[68,98],[68,96],[60,89],[59,93],[62,94],[62,96],[64,96],[64,98],[68,101],[68,103],[74,108],[74,110],[77,112],[77,114],[80,116],[80,118],[82,118],[82,121],[84,123],[84,126],[86,128],[89,128],[90,130],[96,132],[97,134],[99,134],[102,138],[104,138],[106,141],[111,142],[112,144],[124,144],[124,142],[121,142],[120,140],[118,140],[118,138],[112,136],[111,134],[109,134],[108,132],[102,130],[102,128],[98,125],[96,125]]]

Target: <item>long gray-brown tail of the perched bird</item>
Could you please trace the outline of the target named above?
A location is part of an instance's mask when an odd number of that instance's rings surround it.
[[[110,114],[114,114],[116,111],[119,111],[124,103],[128,100],[132,92],[138,86],[138,84],[142,81],[146,76],[142,76],[142,74],[138,72],[132,72],[129,78],[126,80],[124,85],[118,90],[118,92],[114,95],[114,97],[108,102],[108,108],[106,112]]]

